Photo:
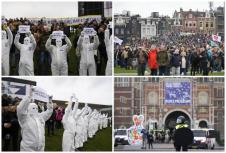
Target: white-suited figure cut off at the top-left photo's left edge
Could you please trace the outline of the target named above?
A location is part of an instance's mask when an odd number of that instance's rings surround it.
[[[8,38],[7,38],[8,35]],[[2,75],[9,76],[9,53],[13,43],[13,34],[9,27],[2,31]]]

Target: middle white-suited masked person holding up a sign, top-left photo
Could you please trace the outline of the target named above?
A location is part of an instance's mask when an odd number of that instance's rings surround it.
[[[56,39],[56,46],[51,45],[52,35],[50,35],[45,46],[46,49],[50,52],[52,63],[51,71],[52,75],[68,75],[68,63],[67,63],[67,53],[72,47],[70,39],[64,35],[63,36],[66,44],[62,45],[62,39]]]

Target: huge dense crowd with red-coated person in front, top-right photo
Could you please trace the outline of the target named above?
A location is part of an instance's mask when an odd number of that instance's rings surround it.
[[[204,75],[224,70],[224,43],[207,34],[171,33],[115,45],[114,66],[137,69],[138,75]],[[126,72],[126,71],[125,71]]]

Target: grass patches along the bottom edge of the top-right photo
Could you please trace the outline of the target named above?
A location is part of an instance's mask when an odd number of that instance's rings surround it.
[[[137,76],[137,70],[135,69],[125,69],[125,68],[120,68],[120,67],[114,67],[114,73],[116,76]],[[189,76],[190,71],[187,76]],[[150,75],[150,70],[146,69],[145,75],[148,76]],[[201,76],[201,74],[197,74],[196,76]],[[213,72],[209,73],[209,76],[224,76],[224,72]]]

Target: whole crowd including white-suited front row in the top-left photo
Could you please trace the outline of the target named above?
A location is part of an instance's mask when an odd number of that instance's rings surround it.
[[[5,19],[3,75],[111,75],[110,21],[102,18],[100,22],[67,25],[58,20],[49,24],[44,19],[37,22],[26,18]],[[29,25],[30,31],[20,33],[20,25]],[[84,28],[93,28],[95,35],[87,37]],[[63,31],[62,38],[52,39],[54,31]]]

